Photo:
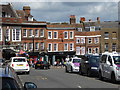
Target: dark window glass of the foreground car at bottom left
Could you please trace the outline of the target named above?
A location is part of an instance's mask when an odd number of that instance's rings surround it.
[[[20,90],[18,83],[14,79],[2,77],[0,81],[0,90]]]

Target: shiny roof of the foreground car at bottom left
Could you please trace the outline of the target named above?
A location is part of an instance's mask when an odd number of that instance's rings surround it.
[[[10,66],[0,67],[0,77],[8,77],[15,79],[14,70]]]

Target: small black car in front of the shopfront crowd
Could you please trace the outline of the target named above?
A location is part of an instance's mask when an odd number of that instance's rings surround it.
[[[47,61],[37,61],[35,64],[35,69],[40,68],[40,69],[50,69],[50,65]]]

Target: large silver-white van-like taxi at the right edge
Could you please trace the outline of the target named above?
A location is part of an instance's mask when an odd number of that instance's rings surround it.
[[[99,79],[107,78],[113,83],[120,81],[120,53],[103,53],[99,65]]]

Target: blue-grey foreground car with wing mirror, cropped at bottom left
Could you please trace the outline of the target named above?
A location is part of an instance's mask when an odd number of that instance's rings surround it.
[[[32,82],[25,82],[23,86],[14,69],[10,66],[0,68],[0,81],[0,90],[28,90],[37,88]]]

